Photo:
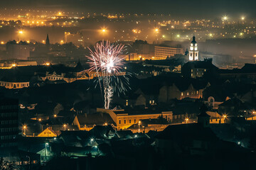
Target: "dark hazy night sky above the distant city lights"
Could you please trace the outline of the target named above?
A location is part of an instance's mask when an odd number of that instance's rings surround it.
[[[130,13],[164,13],[172,16],[219,18],[223,15],[232,17],[256,17],[255,0],[9,0],[1,1],[2,7],[36,6],[54,8],[73,8],[90,12],[130,12]]]

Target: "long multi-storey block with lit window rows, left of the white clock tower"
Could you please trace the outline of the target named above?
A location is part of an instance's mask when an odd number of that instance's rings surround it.
[[[155,46],[154,60],[166,60],[166,57],[174,57],[174,55],[183,55],[183,49],[177,47],[161,47]]]

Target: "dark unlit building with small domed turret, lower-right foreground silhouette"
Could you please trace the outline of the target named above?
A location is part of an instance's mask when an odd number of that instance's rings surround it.
[[[213,151],[218,137],[209,128],[210,116],[198,115],[198,123],[169,125],[156,135],[156,149],[165,154],[204,155]]]

